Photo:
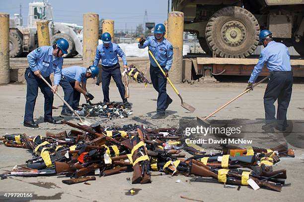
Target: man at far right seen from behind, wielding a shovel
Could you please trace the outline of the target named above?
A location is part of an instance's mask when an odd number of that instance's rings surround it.
[[[262,129],[273,132],[275,127],[284,131],[287,127],[286,113],[293,87],[290,54],[284,44],[273,41],[272,33],[269,30],[262,30],[259,39],[265,49],[261,51],[259,61],[254,67],[246,89],[252,89],[254,81],[266,64],[270,72],[270,78],[264,94],[266,124]],[[274,106],[276,100],[278,100],[277,118],[275,118],[276,108]]]

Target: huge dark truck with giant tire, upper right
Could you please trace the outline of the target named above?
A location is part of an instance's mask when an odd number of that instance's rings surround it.
[[[217,57],[248,57],[269,29],[277,42],[304,56],[304,0],[172,0],[184,13],[184,31]]]

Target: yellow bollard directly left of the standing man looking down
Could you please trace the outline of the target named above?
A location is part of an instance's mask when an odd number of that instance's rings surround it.
[[[82,65],[92,65],[95,51],[98,46],[98,19],[97,13],[83,14],[83,39],[82,39]]]

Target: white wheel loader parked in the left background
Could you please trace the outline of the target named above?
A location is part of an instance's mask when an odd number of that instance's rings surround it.
[[[68,40],[70,47],[65,57],[82,54],[82,26],[54,22],[52,6],[48,1],[29,3],[27,26],[22,25],[22,16],[14,14],[9,19],[9,56],[18,57],[38,47],[37,25],[39,20],[48,20],[50,44],[60,38]]]

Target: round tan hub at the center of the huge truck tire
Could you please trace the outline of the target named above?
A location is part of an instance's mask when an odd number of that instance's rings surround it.
[[[229,20],[221,28],[222,40],[228,46],[239,46],[245,40],[246,30],[247,29],[242,22],[238,20]]]

